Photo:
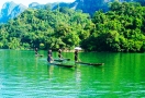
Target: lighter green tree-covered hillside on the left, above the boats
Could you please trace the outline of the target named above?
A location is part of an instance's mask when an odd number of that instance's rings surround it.
[[[90,24],[89,14],[81,11],[27,9],[8,24],[0,25],[0,48],[71,49],[80,44],[80,38],[89,36],[83,29]]]

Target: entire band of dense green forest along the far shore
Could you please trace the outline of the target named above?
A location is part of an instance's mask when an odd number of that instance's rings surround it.
[[[145,7],[112,2],[110,11],[93,16],[81,10],[27,9],[0,25],[2,49],[74,49],[87,51],[145,51]]]

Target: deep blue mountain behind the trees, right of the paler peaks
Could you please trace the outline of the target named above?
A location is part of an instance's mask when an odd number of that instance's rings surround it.
[[[145,0],[76,0],[70,4],[71,8],[80,9],[85,13],[93,14],[98,10],[103,10],[104,12],[109,10],[109,3],[113,1],[119,2],[140,2],[145,5]]]

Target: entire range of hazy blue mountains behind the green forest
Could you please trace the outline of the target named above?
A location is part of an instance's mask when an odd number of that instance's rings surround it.
[[[71,3],[66,2],[54,2],[40,4],[37,2],[32,2],[29,4],[30,9],[46,9],[47,7],[52,10],[57,9],[59,7],[67,7],[75,10],[82,10],[85,13],[93,14],[96,11],[102,9],[103,11],[108,11],[108,4],[113,1],[120,2],[141,2],[142,5],[145,4],[145,0],[76,0]],[[0,23],[8,22],[9,19],[13,19],[18,16],[20,13],[25,11],[27,8],[23,4],[16,4],[13,1],[5,2],[0,11]]]

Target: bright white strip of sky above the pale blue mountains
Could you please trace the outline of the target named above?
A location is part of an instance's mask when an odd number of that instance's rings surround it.
[[[38,2],[40,4],[45,4],[48,2],[74,2],[75,0],[0,0],[0,9],[5,2],[13,1],[14,3],[19,4],[22,3],[25,7],[29,7],[32,2]]]

